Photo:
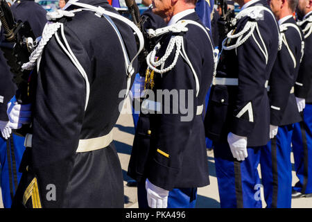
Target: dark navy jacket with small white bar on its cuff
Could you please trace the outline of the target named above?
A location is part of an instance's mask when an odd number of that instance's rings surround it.
[[[293,17],[287,19],[284,25],[295,23]],[[274,126],[284,126],[301,121],[298,112],[295,94],[292,87],[298,76],[300,60],[302,58],[302,41],[304,35],[301,28],[297,29],[288,26],[286,31],[281,29],[281,35],[284,35],[284,41],[281,50],[277,53],[272,73],[269,80],[269,98],[270,98],[270,123]]]

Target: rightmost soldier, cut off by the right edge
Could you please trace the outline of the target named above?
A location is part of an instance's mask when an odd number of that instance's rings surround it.
[[[295,83],[297,105],[303,121],[293,130],[293,155],[299,181],[293,187],[293,198],[312,196],[312,1],[299,0],[297,15],[304,33],[304,57]]]

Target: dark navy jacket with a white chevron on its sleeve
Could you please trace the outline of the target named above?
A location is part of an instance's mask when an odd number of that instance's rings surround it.
[[[252,3],[249,7],[257,5],[269,8],[266,1],[262,0]],[[263,17],[257,20],[248,16],[239,19],[234,27],[234,34],[242,31],[248,21],[257,22],[266,45],[267,60],[257,44],[262,42],[257,31],[253,33],[254,37],[250,36],[236,50],[223,50],[220,55],[216,77],[238,78],[239,86],[211,87],[205,130],[207,137],[215,142],[227,142],[227,134],[232,132],[247,137],[248,146],[262,146],[268,143],[270,107],[265,86],[277,56],[279,30],[276,19],[270,12],[263,10],[262,14]],[[235,44],[236,40],[229,44]],[[264,48],[263,44],[259,45]]]

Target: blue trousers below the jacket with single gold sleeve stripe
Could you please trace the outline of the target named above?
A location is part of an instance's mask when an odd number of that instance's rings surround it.
[[[148,208],[145,182],[137,185],[139,208]],[[194,208],[196,205],[197,188],[181,188],[169,191],[167,208]]]

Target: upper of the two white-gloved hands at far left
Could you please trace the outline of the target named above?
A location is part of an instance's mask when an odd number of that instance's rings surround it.
[[[22,124],[31,123],[31,104],[19,104],[13,96],[8,103],[7,114],[10,120],[10,128],[19,129]]]

